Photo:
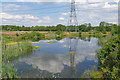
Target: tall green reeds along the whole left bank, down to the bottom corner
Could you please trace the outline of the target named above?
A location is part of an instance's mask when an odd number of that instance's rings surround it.
[[[6,41],[2,42],[2,78],[17,77],[16,69],[11,61],[18,59],[20,56],[27,56],[33,53],[34,46],[30,42],[21,42],[8,45]]]

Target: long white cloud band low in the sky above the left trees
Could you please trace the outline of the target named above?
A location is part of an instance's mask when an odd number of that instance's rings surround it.
[[[0,19],[2,19],[2,24],[14,24],[14,25],[39,25],[40,23],[50,23],[51,19],[48,16],[39,18],[30,14],[14,15],[9,13],[0,13]],[[22,24],[21,24],[22,23]]]

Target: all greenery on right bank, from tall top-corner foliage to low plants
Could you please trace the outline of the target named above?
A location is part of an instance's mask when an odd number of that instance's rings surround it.
[[[119,27],[114,27],[112,36],[100,38],[98,44],[102,47],[97,51],[98,71],[92,73],[92,78],[120,79],[120,38]],[[98,77],[101,78],[101,77]]]

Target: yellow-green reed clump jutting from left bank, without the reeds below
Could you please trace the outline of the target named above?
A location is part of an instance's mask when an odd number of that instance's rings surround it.
[[[10,43],[9,45],[8,44],[2,45],[3,47],[2,52],[4,53],[2,54],[3,59],[7,58],[7,60],[9,60],[9,59],[14,59],[16,57],[22,56],[24,54],[32,54],[32,50],[33,50],[32,43],[29,43],[29,42],[22,42],[21,44],[19,43],[21,42],[18,42],[18,43],[13,42],[13,43]]]

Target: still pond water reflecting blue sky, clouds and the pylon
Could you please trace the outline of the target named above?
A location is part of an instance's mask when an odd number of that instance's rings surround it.
[[[98,66],[95,59],[96,50],[100,48],[97,45],[97,38],[90,40],[78,39],[77,45],[74,39],[71,39],[71,46],[75,45],[76,53],[70,54],[69,38],[62,40],[40,40],[40,48],[33,51],[32,55],[20,57],[15,61],[17,74],[22,78],[79,78],[87,70]],[[45,43],[48,41],[57,41],[57,43]],[[74,44],[75,43],[75,44]]]

